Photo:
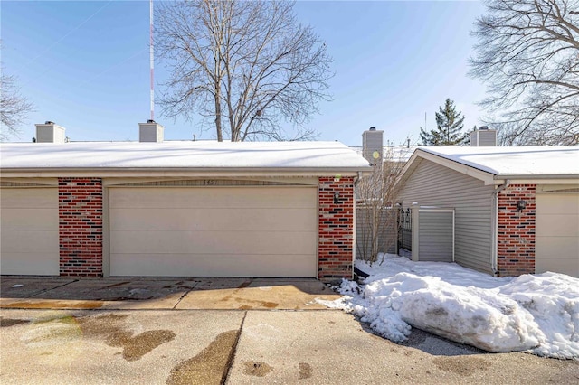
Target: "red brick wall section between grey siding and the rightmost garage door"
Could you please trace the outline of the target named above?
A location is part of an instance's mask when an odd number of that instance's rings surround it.
[[[498,275],[535,273],[535,184],[511,184],[498,194]],[[527,207],[517,211],[517,202]]]

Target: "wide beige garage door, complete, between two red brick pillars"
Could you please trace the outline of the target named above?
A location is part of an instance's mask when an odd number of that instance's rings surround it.
[[[317,189],[109,189],[111,276],[316,277]]]

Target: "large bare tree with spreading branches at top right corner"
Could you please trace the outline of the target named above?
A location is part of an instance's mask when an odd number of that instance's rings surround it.
[[[488,0],[470,74],[503,145],[579,143],[579,1]]]

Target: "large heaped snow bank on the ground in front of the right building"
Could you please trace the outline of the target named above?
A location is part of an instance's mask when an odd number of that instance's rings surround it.
[[[356,261],[370,277],[344,281],[341,299],[319,301],[358,315],[400,342],[411,325],[489,352],[523,351],[579,359],[579,279],[544,273],[490,277],[456,264],[386,255]]]

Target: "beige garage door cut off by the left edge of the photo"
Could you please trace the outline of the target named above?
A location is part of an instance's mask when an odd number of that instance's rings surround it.
[[[58,190],[0,190],[0,274],[59,275]]]

